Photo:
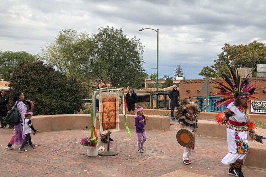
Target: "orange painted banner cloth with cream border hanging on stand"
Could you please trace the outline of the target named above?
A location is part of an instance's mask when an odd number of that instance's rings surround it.
[[[100,133],[118,132],[119,128],[119,92],[99,93]]]

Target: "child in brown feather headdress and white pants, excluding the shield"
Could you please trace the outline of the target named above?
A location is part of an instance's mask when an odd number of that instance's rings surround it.
[[[180,123],[180,128],[186,128],[193,133],[197,131],[197,113],[198,111],[198,105],[192,102],[192,98],[187,98],[184,100],[181,100],[181,106],[178,108],[176,112],[176,118],[178,119],[178,122]],[[192,147],[185,148],[183,153],[183,162],[184,164],[191,164],[191,161],[189,160],[189,157],[194,150],[194,144]]]

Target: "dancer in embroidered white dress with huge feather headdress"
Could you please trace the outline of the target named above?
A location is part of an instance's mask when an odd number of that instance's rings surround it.
[[[241,78],[241,75],[228,67],[228,74],[221,71],[221,81],[215,81],[216,89],[220,92],[213,96],[222,97],[216,107],[227,106],[224,113],[216,116],[216,121],[220,124],[226,124],[228,154],[222,159],[222,163],[230,165],[228,174],[244,177],[242,166],[247,158],[248,140],[250,133],[252,139],[256,140],[255,124],[250,121],[247,103],[249,99],[258,99],[254,96],[255,85],[248,83],[249,76]],[[254,136],[255,135],[255,136]],[[257,141],[257,140],[256,140]],[[260,142],[261,140],[259,140]]]

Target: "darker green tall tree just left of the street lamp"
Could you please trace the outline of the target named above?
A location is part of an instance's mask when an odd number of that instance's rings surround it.
[[[143,68],[144,52],[141,40],[127,38],[122,29],[98,29],[92,40],[96,44],[93,66],[98,78],[110,81],[113,86],[140,88],[147,74]]]

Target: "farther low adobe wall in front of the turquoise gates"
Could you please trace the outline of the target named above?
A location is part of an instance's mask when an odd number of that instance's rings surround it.
[[[144,109],[144,114],[146,115],[162,115],[162,116],[170,116],[171,110],[166,109]],[[198,115],[198,119],[202,120],[215,120],[217,112],[200,112]],[[250,114],[250,119],[252,122],[264,122],[266,123],[266,115],[265,114]]]

